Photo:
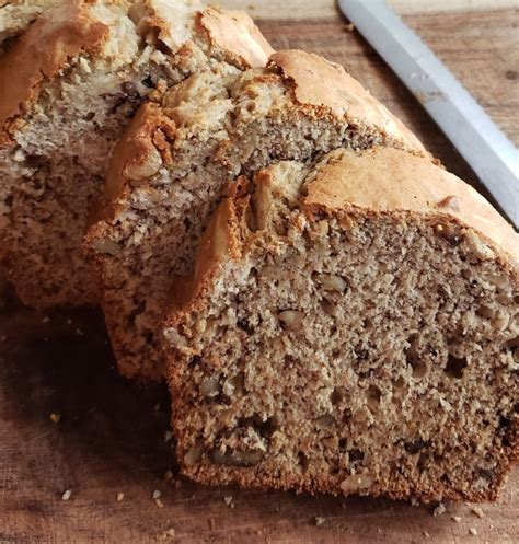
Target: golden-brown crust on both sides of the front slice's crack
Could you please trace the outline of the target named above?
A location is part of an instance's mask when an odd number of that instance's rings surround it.
[[[309,183],[301,202],[310,220],[321,211],[341,216],[351,209],[368,215],[432,216],[438,224],[450,219],[473,229],[491,243],[497,257],[517,268],[519,235],[485,198],[453,174],[427,159],[392,148],[338,150],[330,157],[328,163]],[[177,298],[172,293],[166,326],[175,326],[185,313],[198,308],[201,293],[220,263],[241,254],[242,241],[238,234],[241,202],[237,187],[235,183],[230,184],[228,198],[216,212],[218,220],[211,221],[206,230],[205,247],[212,251],[198,251],[197,274],[184,282],[184,293],[188,294]]]

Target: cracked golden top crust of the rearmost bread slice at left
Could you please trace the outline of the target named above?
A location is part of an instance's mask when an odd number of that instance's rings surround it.
[[[129,18],[124,28],[114,30],[124,13]],[[70,59],[95,51],[107,61],[129,63],[137,54],[137,34],[146,43],[162,42],[170,55],[181,55],[194,33],[205,35],[209,47],[241,68],[265,66],[273,53],[249,15],[201,2],[71,0],[47,11],[0,59],[0,144],[12,141],[43,83]]]

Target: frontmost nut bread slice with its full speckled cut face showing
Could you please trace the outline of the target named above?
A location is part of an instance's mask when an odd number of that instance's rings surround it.
[[[518,235],[393,149],[232,184],[166,320],[184,474],[492,500],[519,454]]]

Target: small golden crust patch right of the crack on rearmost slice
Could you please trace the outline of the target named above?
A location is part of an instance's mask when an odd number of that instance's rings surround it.
[[[274,53],[252,19],[243,11],[208,8],[199,14],[199,25],[208,33],[212,46],[230,54],[241,68],[264,67]]]

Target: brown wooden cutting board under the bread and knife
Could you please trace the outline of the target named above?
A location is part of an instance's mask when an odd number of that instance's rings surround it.
[[[499,2],[514,4],[492,3]],[[260,26],[276,48],[304,48],[343,63],[450,170],[475,182],[419,103],[347,30],[332,2],[244,5],[261,15]],[[406,20],[517,144],[517,10],[413,13]],[[447,505],[447,512],[435,517],[432,507],[382,499],[211,489],[176,476],[168,423],[164,387],[141,387],[117,377],[101,315],[43,315],[20,308],[11,296],[2,299],[2,544],[519,542],[519,471],[497,505],[482,506],[483,518],[468,505]],[[173,473],[169,482],[166,471]],[[67,489],[71,497],[65,501]],[[160,501],[152,499],[154,490],[161,491]]]

